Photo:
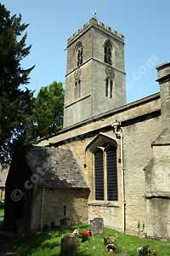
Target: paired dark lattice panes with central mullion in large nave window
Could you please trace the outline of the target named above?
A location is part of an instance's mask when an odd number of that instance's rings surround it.
[[[94,199],[117,201],[116,148],[97,148],[94,152]]]

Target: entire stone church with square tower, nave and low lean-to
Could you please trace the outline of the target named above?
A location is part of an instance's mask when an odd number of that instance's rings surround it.
[[[122,34],[92,18],[68,39],[64,128],[27,155],[35,170],[45,150],[55,169],[53,183],[46,173],[34,186],[32,229],[101,217],[116,230],[170,238],[170,63],[156,70],[161,91],[127,104]]]

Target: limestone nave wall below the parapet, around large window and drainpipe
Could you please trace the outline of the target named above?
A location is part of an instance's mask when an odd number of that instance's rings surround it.
[[[161,129],[160,117],[147,119],[142,122],[123,127],[124,137],[124,164],[125,164],[125,195],[126,195],[126,228],[127,232],[138,231],[138,222],[146,224],[145,216],[145,182],[144,166],[152,157],[151,143],[156,139]],[[115,139],[113,131],[105,132]],[[71,148],[79,164],[84,170],[88,181],[88,168],[86,163],[85,148],[94,137],[87,137],[71,143],[60,145],[59,148]],[[89,218],[103,217],[105,225],[117,230],[122,229],[122,183],[120,164],[117,164],[119,201],[117,205],[93,204],[89,201]],[[88,181],[89,182],[89,181]]]

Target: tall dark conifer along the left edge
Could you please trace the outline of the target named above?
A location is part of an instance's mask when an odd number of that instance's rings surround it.
[[[21,23],[21,15],[10,15],[0,3],[0,164],[11,160],[14,143],[23,139],[27,119],[33,108],[32,92],[20,85],[29,83],[33,67],[24,69],[20,62],[30,53],[26,46],[28,24]]]

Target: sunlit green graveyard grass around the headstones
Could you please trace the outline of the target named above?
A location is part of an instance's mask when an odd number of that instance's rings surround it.
[[[31,233],[15,242],[14,249],[18,256],[59,256],[60,241],[65,235],[79,227],[81,231],[89,230],[87,224],[74,225],[71,229],[46,230],[43,232]],[[109,236],[116,236],[116,253],[124,252],[127,256],[137,256],[137,248],[145,245],[155,249],[157,256],[170,255],[170,241],[157,241],[136,236],[124,235],[115,230],[105,228]],[[87,241],[81,242],[77,247],[78,256],[106,256],[110,255],[103,245],[103,235],[88,237]],[[118,256],[118,255],[117,255]]]

